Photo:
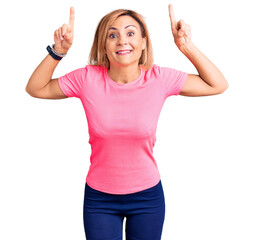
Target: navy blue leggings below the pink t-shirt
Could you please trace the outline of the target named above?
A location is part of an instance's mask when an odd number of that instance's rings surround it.
[[[160,240],[165,217],[161,181],[131,194],[109,194],[85,186],[83,220],[86,240]]]

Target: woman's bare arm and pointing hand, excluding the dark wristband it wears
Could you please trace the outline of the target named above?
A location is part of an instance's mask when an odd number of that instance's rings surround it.
[[[56,52],[62,54],[67,53],[72,45],[73,36],[74,8],[71,7],[69,24],[63,24],[54,33],[54,49]],[[59,86],[58,78],[51,79],[59,62],[60,60],[56,60],[48,54],[31,75],[26,85],[26,92],[36,98],[67,98]]]

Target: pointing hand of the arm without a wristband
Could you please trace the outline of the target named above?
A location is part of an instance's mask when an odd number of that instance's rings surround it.
[[[168,5],[169,17],[171,20],[171,30],[174,36],[174,42],[180,49],[191,42],[191,26],[186,24],[182,19],[176,22],[173,5]]]

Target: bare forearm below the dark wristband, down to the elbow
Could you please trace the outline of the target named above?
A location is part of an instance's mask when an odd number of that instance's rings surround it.
[[[59,62],[48,54],[32,73],[26,85],[26,91],[28,93],[36,92],[46,86]]]

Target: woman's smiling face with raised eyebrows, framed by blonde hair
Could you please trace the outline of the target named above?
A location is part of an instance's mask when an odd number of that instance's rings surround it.
[[[110,65],[127,66],[137,64],[146,47],[146,38],[142,38],[138,22],[130,16],[117,18],[107,33],[106,54]],[[130,52],[119,52],[130,50]]]

